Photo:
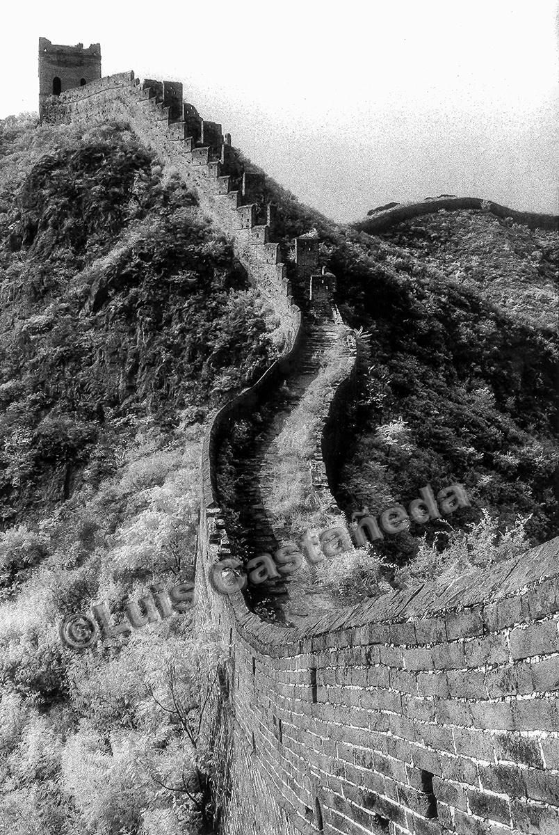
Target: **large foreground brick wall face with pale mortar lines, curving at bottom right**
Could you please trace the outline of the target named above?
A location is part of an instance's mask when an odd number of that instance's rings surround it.
[[[221,831],[559,832],[558,551],[305,631],[200,589],[232,645],[227,721],[211,726],[234,787]]]

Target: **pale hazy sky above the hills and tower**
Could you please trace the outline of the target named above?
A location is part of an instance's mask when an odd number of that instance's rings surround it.
[[[0,118],[37,110],[38,38],[179,79],[205,119],[335,220],[441,193],[557,211],[553,0],[10,3]]]

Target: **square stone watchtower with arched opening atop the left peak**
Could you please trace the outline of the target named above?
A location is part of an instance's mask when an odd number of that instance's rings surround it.
[[[101,78],[99,43],[84,49],[83,43],[66,47],[39,38],[39,112],[47,96],[58,96],[97,78]]]

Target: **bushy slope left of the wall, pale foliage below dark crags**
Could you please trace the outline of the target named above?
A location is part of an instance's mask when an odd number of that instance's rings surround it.
[[[198,832],[219,641],[186,604],[79,652],[58,622],[193,579],[202,423],[274,358],[267,311],[125,126],[7,119],[0,153],[3,821]]]

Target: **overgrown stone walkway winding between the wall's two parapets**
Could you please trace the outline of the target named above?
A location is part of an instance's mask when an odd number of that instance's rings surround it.
[[[321,451],[322,428],[330,410],[330,401],[338,382],[347,376],[354,355],[345,342],[346,334],[332,317],[309,317],[305,321],[304,337],[299,362],[285,378],[274,397],[249,421],[250,441],[236,450],[237,457],[231,464],[231,448],[225,444],[227,466],[219,470],[220,481],[234,482],[234,499],[230,508],[225,506],[226,519],[234,514],[232,539],[245,559],[256,554],[274,554],[280,546],[298,544],[306,529],[327,526],[325,522],[345,527],[340,510],[330,493],[325,464]],[[340,376],[334,382],[325,382],[331,366],[325,355],[334,354],[340,359]],[[312,452],[308,458],[287,453],[288,471],[304,485],[304,502],[300,513],[282,513],[277,506],[277,483],[283,482],[288,492],[297,484],[286,481],[282,463],[285,462],[286,445],[290,438],[301,431],[300,412],[309,413],[310,402],[316,404],[316,392],[320,392],[320,408],[313,410],[313,426],[303,423],[310,433]],[[223,461],[223,458],[222,458]],[[218,464],[219,467],[219,464]],[[233,472],[232,472],[233,468]],[[295,471],[295,472],[294,472]],[[227,489],[223,493],[229,493]],[[305,512],[306,511],[306,512]],[[320,523],[319,523],[320,520]],[[306,524],[305,524],[306,521]],[[306,560],[293,574],[266,580],[253,587],[250,600],[263,615],[286,624],[296,625],[301,618],[331,612],[337,604],[317,583],[322,567],[312,566]]]

